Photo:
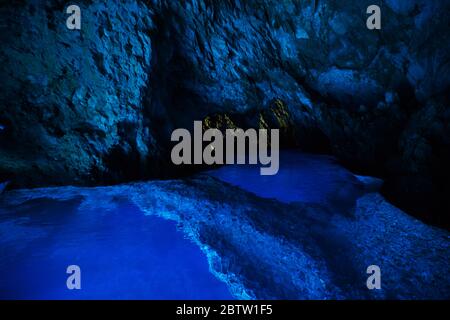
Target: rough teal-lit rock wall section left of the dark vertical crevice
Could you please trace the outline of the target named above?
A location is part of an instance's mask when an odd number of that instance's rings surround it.
[[[16,185],[137,179],[157,154],[143,104],[151,11],[136,1],[1,5],[0,171]],[[141,172],[142,171],[142,172]]]

